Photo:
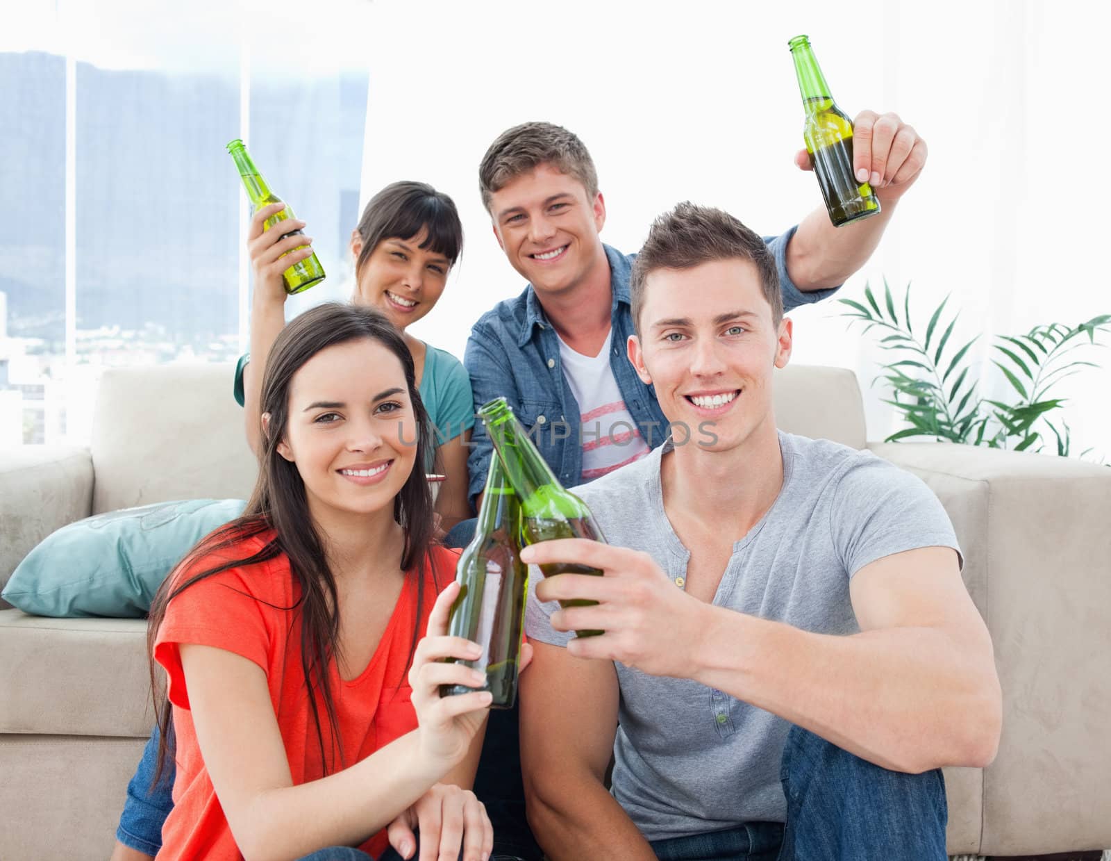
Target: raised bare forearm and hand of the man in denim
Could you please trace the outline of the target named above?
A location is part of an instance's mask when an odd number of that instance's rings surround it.
[[[895,204],[925,165],[925,141],[895,113],[865,110],[853,121],[853,170],[869,181],[880,200],[880,215],[833,227],[825,206],[807,216],[787,247],[787,270],[803,293],[843,284],[872,256]],[[805,150],[794,157],[811,170]]]

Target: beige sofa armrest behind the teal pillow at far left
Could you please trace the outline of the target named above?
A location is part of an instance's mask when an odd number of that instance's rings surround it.
[[[28,445],[0,451],[0,588],[34,545],[91,513],[88,448]]]

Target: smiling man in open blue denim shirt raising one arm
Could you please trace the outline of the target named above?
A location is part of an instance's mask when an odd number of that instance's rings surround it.
[[[787,310],[830,296],[868,260],[925,162],[925,142],[893,113],[864,111],[854,138],[857,175],[871,180],[883,211],[834,228],[820,206],[764,239]],[[809,168],[805,150],[795,161]],[[605,202],[590,154],[567,129],[527,122],[490,146],[479,185],[498,243],[529,285],[471,329],[464,365],[476,407],[504,396],[568,487],[639,459],[663,443],[668,422],[625,358],[633,257],[599,238]],[[491,453],[480,424],[471,444],[477,507]]]

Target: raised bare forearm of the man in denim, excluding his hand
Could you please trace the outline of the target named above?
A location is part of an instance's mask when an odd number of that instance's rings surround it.
[[[895,209],[881,201],[882,211],[862,221],[833,227],[825,207],[807,216],[787,246],[787,271],[803,293],[844,284],[868,263]]]

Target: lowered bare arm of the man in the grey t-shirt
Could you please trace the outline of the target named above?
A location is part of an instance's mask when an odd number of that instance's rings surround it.
[[[655,861],[605,789],[618,726],[618,676],[536,640],[521,675],[521,771],[529,825],[551,861]]]

